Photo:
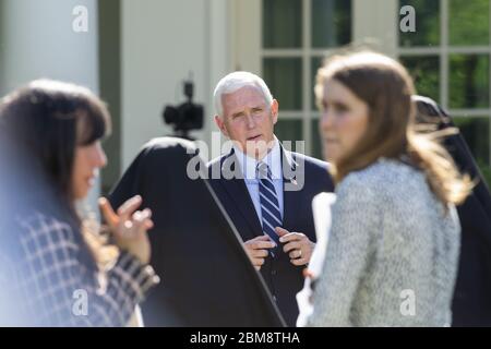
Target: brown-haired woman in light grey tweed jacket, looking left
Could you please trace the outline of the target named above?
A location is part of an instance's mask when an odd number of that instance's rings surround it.
[[[444,326],[458,265],[455,204],[471,188],[439,134],[418,134],[414,86],[395,60],[328,60],[315,94],[337,183],[314,326]]]

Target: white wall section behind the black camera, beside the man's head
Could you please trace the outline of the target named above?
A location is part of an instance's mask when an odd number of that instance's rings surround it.
[[[165,105],[184,100],[182,81],[193,73],[194,101],[205,105],[209,141],[212,93],[229,71],[226,0],[122,0],[122,166],[149,139],[172,133]]]

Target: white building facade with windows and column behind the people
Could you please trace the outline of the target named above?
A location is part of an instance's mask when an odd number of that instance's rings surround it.
[[[88,10],[88,32],[74,33],[72,10]],[[400,9],[415,9],[416,32],[403,33]],[[306,141],[321,156],[313,97],[323,57],[349,43],[370,44],[400,59],[419,92],[453,117],[490,168],[491,28],[488,0],[0,0],[0,94],[46,76],[87,85],[113,118],[106,143],[107,191],[149,139],[172,134],[166,105],[205,107],[211,144],[212,94],[233,70],[262,75],[278,99],[280,140]]]

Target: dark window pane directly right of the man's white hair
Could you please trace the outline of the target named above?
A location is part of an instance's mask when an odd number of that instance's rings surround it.
[[[279,103],[279,110],[302,109],[301,58],[265,58],[264,81]]]

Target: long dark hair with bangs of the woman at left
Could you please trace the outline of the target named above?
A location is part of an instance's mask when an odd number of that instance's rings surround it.
[[[15,195],[9,210],[21,216],[41,210],[68,222],[86,246],[81,258],[95,267],[112,260],[115,250],[91,226],[93,219],[79,216],[72,172],[75,148],[109,131],[106,105],[82,86],[38,80],[0,101],[0,137],[7,139],[0,157],[7,159],[9,172],[1,186]]]

